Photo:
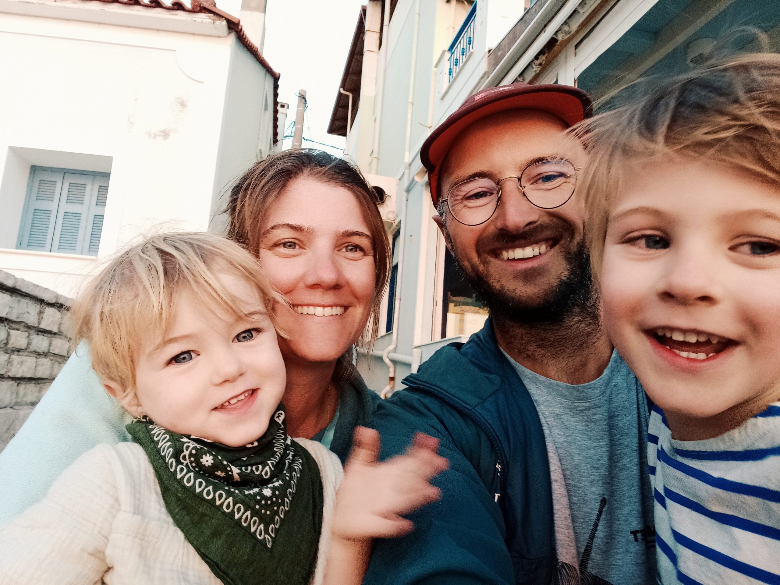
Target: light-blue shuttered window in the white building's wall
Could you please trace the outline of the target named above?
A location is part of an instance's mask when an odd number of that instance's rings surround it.
[[[30,192],[18,247],[97,255],[108,199],[108,175],[30,168]]]

